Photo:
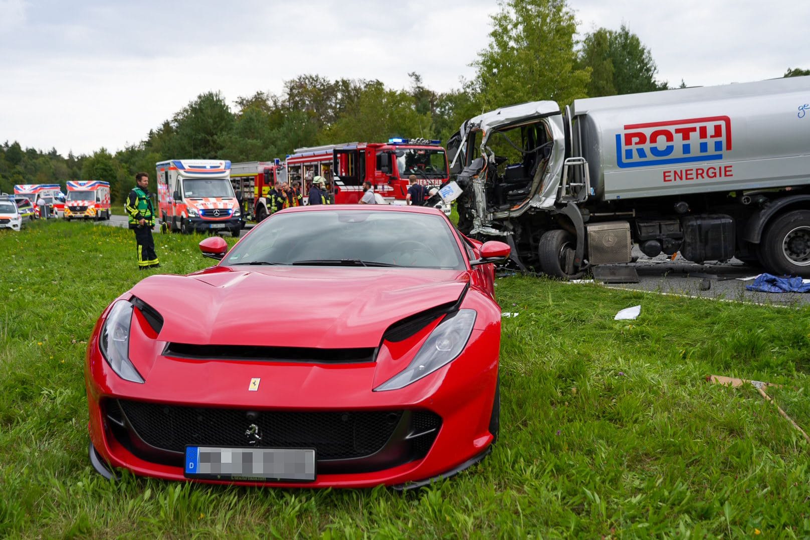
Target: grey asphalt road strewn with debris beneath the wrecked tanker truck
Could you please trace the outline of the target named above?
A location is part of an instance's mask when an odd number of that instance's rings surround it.
[[[109,221],[99,221],[104,225],[126,227],[126,216],[110,216]],[[160,227],[153,229],[160,234]],[[249,229],[242,229],[244,236]],[[223,235],[230,233],[221,233]],[[634,266],[638,273],[638,283],[606,283],[604,286],[616,289],[646,290],[654,293],[678,294],[703,298],[757,302],[778,306],[796,306],[810,303],[810,294],[799,293],[756,293],[745,289],[753,280],[740,278],[757,276],[765,272],[762,268],[749,266],[737,259],[722,264],[689,263],[678,255],[670,260],[667,255],[650,259],[637,248],[633,249],[637,261],[633,265],[613,264],[610,268]],[[572,285],[572,286],[575,286]]]

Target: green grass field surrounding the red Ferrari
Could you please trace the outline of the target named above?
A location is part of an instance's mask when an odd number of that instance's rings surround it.
[[[161,272],[211,263],[156,235]],[[232,242],[228,239],[228,242]],[[87,460],[86,341],[143,279],[127,229],[36,222],[0,234],[0,537],[678,538],[810,536],[810,311],[497,280],[501,437],[420,492],[108,482]],[[614,321],[642,305],[634,321]]]

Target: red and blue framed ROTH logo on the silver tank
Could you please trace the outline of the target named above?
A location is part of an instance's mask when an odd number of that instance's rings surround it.
[[[616,134],[616,164],[622,168],[722,160],[729,150],[727,116],[628,124]]]

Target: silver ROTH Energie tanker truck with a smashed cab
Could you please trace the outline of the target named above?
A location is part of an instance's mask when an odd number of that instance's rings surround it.
[[[523,270],[573,279],[636,244],[810,277],[808,103],[810,76],[505,107],[450,138],[442,193]]]

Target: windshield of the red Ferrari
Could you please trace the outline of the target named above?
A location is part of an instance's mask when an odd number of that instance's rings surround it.
[[[275,214],[221,263],[237,264],[466,268],[443,216],[380,210]]]

